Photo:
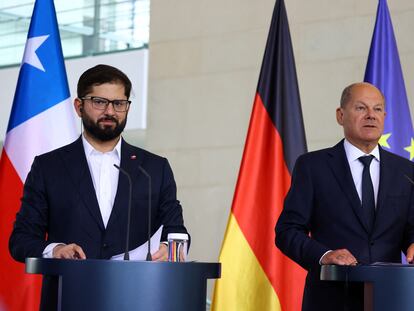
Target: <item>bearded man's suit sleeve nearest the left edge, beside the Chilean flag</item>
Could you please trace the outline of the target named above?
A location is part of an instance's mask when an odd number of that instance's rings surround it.
[[[9,239],[9,251],[15,260],[24,262],[27,257],[41,257],[48,244],[45,241],[48,204],[37,157],[27,175],[21,202]]]

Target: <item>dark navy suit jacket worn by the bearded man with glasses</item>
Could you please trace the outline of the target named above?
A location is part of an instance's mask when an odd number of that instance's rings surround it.
[[[152,233],[161,224],[164,225],[161,237],[164,241],[168,233],[187,232],[168,161],[122,141],[121,167],[131,175],[133,187],[129,249],[144,243],[148,232],[148,180],[139,166],[152,177]],[[43,250],[52,242],[76,243],[87,258],[107,259],[123,253],[128,191],[128,180],[119,173],[114,206],[105,228],[82,139],[36,157],[24,185],[22,205],[10,237],[11,255],[22,262],[26,257],[42,257]],[[45,283],[44,288],[48,286]],[[51,290],[49,288],[49,294]],[[49,301],[51,295],[48,296]],[[45,302],[43,298],[42,303]]]

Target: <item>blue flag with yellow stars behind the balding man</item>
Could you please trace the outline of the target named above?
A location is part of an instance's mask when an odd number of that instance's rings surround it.
[[[379,0],[364,81],[385,96],[384,133],[379,144],[404,158],[414,158],[413,126],[404,78],[386,0]]]

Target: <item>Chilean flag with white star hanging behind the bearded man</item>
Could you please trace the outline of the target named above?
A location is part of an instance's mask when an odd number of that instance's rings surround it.
[[[23,184],[36,155],[76,139],[53,0],[37,0],[0,158],[0,310],[38,310],[40,276],[8,251]]]

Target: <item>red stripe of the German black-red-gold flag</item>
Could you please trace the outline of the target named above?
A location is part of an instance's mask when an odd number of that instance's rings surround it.
[[[306,274],[275,246],[274,228],[290,178],[282,140],[257,94],[232,211],[284,311],[300,310]]]

